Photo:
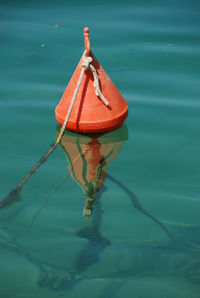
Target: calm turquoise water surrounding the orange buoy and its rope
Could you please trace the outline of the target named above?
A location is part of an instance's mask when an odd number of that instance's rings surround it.
[[[86,25],[129,117],[88,221],[64,144],[0,209],[0,297],[199,297],[199,1],[1,2],[0,198],[56,139]]]

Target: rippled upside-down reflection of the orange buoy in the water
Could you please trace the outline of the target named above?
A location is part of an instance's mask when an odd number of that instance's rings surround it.
[[[118,156],[127,139],[128,129],[125,125],[101,136],[89,137],[69,131],[63,135],[60,145],[67,157],[69,174],[85,195],[85,219],[92,213],[92,205],[103,184],[108,165]]]

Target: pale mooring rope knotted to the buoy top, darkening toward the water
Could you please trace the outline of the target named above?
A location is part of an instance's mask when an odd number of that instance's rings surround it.
[[[109,102],[107,101],[107,99],[101,93],[101,90],[100,90],[100,87],[99,87],[99,79],[98,79],[97,71],[96,71],[95,67],[91,64],[92,60],[93,60],[92,57],[90,57],[90,56],[87,57],[86,51],[84,51],[81,73],[80,73],[78,82],[76,84],[76,88],[74,90],[74,94],[72,96],[70,106],[69,106],[69,109],[67,111],[67,115],[65,117],[64,123],[63,123],[63,125],[60,129],[59,135],[58,135],[55,143],[53,143],[53,145],[50,146],[50,148],[47,150],[47,152],[45,152],[45,154],[40,158],[40,160],[38,162],[36,162],[36,164],[23,177],[23,179],[17,184],[17,186],[11,192],[9,192],[9,194],[0,202],[0,208],[5,207],[6,205],[10,204],[11,202],[13,202],[16,199],[16,196],[17,196],[18,192],[21,190],[24,183],[41,166],[41,164],[43,164],[47,160],[49,155],[57,148],[58,144],[60,144],[62,136],[65,132],[66,127],[67,127],[67,123],[69,121],[69,117],[71,115],[74,103],[76,101],[76,96],[77,96],[77,93],[78,93],[79,88],[81,86],[81,83],[82,83],[82,80],[84,78],[84,74],[85,74],[86,70],[90,69],[92,71],[93,78],[94,78],[95,94],[102,100],[102,102],[106,106],[109,105]]]

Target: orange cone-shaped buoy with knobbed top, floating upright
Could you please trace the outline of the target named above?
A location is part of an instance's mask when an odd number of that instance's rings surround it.
[[[111,131],[128,116],[128,105],[91,52],[87,27],[84,42],[85,52],[55,109],[56,120],[62,126],[70,109],[66,129],[82,133]]]

